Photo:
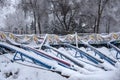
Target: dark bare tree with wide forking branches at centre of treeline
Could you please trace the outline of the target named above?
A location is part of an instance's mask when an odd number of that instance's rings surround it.
[[[75,17],[79,13],[79,4],[71,0],[51,0],[54,28],[64,33],[71,33],[76,28]],[[57,23],[57,24],[56,24]],[[60,32],[61,32],[60,31]]]

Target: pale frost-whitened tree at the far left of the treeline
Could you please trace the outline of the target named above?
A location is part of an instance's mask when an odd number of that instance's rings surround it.
[[[14,28],[25,30],[26,24],[30,24],[30,20],[24,18],[24,13],[20,9],[6,15],[5,26],[8,31],[12,32]]]

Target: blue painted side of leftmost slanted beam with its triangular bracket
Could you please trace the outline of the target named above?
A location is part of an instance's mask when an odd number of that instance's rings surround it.
[[[50,70],[51,69],[55,69],[52,65],[46,64],[46,63],[40,61],[39,59],[36,59],[33,56],[27,55],[27,53],[28,54],[31,54],[31,53],[28,52],[28,51],[25,51],[23,49],[20,49],[18,47],[12,46],[12,45],[7,44],[7,43],[1,43],[1,42],[0,42],[0,47],[7,48],[7,49],[10,49],[12,51],[15,51],[15,55],[13,57],[14,61],[16,61],[16,60],[22,60],[22,61],[24,61],[23,57],[26,57],[26,58],[32,60],[34,63],[38,64],[39,66],[45,67],[45,68],[50,69]],[[17,58],[17,55],[20,55],[20,58]]]

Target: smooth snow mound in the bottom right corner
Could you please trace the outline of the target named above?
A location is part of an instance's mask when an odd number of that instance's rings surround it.
[[[101,71],[90,75],[72,75],[69,80],[120,80],[120,69]]]

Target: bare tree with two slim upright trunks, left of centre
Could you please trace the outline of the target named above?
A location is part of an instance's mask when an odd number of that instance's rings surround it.
[[[41,22],[43,16],[46,15],[47,10],[46,0],[22,0],[20,6],[24,10],[25,14],[32,13],[35,34],[37,31],[41,34]]]

